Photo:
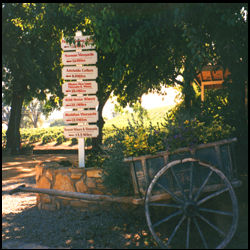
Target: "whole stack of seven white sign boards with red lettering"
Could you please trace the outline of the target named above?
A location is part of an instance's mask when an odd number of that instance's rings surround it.
[[[93,64],[97,62],[97,53],[91,36],[75,36],[75,43],[69,44],[63,38],[61,48],[62,78],[64,84],[62,91],[65,94],[63,107],[74,109],[65,111],[63,120],[67,124],[81,123],[82,125],[71,125],[64,127],[66,138],[97,137],[99,130],[95,123],[98,120],[96,107],[99,102],[95,95],[98,76],[97,67]],[[86,43],[87,42],[87,43]],[[86,66],[88,65],[88,66]]]

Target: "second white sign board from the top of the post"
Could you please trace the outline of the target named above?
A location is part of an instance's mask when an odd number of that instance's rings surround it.
[[[64,65],[76,64],[96,64],[96,51],[66,52],[62,54],[62,63]]]

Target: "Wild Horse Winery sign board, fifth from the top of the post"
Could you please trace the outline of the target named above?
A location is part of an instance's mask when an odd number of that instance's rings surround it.
[[[64,108],[96,108],[99,102],[96,96],[66,96],[63,98]]]

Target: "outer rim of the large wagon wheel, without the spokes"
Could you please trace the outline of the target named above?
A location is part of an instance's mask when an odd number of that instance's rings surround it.
[[[211,171],[215,172],[220,178],[222,178],[222,180],[224,181],[224,183],[228,187],[228,192],[230,194],[230,198],[232,201],[233,219],[232,219],[232,224],[231,224],[229,232],[227,233],[224,240],[219,245],[217,245],[216,249],[224,248],[230,242],[233,235],[235,234],[237,224],[238,224],[238,202],[237,202],[235,192],[233,190],[233,187],[232,187],[230,181],[227,179],[227,177],[223,174],[222,171],[220,171],[219,169],[215,168],[214,166],[212,166],[210,164],[201,162],[201,161],[199,161],[197,159],[193,159],[193,158],[186,158],[183,160],[176,160],[176,161],[172,161],[172,162],[168,163],[166,166],[164,166],[162,169],[160,169],[160,171],[158,171],[158,173],[154,176],[153,180],[151,181],[150,185],[148,186],[148,189],[147,189],[147,192],[145,195],[145,214],[146,214],[147,224],[148,224],[148,227],[150,229],[150,232],[161,248],[168,248],[163,244],[162,240],[156,235],[156,233],[152,227],[151,218],[150,218],[150,211],[149,211],[149,198],[150,198],[152,189],[153,189],[155,183],[157,182],[157,180],[160,178],[160,176],[163,175],[172,166],[175,166],[177,164],[182,164],[185,162],[197,162],[201,166],[210,168]],[[185,219],[187,219],[187,217],[185,218],[183,216],[182,219],[185,220]]]

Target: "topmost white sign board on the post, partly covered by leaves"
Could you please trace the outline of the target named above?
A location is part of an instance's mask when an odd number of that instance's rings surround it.
[[[63,38],[61,41],[62,50],[68,51],[68,50],[76,50],[76,49],[94,49],[95,48],[92,36],[75,36],[74,40],[75,40],[75,44],[74,43],[69,44],[66,42],[65,38]],[[88,45],[86,45],[87,41],[88,41]]]

